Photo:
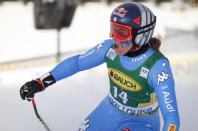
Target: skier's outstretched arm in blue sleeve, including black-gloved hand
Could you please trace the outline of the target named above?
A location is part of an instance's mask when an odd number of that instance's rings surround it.
[[[25,83],[20,89],[21,98],[24,100],[25,98],[33,97],[35,93],[44,90],[58,80],[104,63],[104,55],[111,45],[112,40],[106,40],[85,54],[65,59],[42,77]]]

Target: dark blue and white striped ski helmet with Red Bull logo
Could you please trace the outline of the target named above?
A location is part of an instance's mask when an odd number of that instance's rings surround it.
[[[138,46],[148,44],[154,33],[156,16],[140,3],[124,3],[113,10],[111,21],[132,27],[132,43]]]

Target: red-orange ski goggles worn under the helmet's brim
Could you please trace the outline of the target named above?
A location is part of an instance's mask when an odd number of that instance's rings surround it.
[[[129,41],[132,39],[132,27],[110,21],[110,37],[117,41]]]

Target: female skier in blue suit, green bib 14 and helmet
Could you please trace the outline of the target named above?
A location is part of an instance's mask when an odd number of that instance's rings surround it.
[[[79,131],[160,131],[159,107],[163,131],[179,131],[174,79],[168,59],[159,51],[161,41],[152,37],[155,24],[156,16],[146,6],[121,4],[111,14],[111,39],[27,82],[20,89],[21,98],[106,62],[109,94]]]

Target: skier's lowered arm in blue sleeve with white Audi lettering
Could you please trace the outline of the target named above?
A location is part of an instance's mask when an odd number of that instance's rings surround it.
[[[164,119],[162,131],[179,131],[180,119],[175,95],[175,83],[167,59],[161,59],[149,73],[149,84],[154,88]],[[171,131],[172,131],[171,130]]]

